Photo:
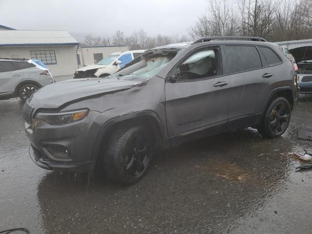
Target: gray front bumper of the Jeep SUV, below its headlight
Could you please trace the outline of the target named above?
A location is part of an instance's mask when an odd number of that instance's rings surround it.
[[[47,170],[93,171],[97,160],[94,148],[100,130],[94,121],[96,117],[96,112],[89,112],[81,121],[63,125],[40,121],[31,126],[25,122],[25,132],[31,143],[30,157]]]

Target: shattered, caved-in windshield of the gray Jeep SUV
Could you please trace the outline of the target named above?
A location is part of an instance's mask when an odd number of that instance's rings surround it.
[[[151,51],[141,56],[141,61],[124,70],[121,70],[109,78],[134,79],[150,78],[160,71],[177,54],[177,50],[172,51]]]

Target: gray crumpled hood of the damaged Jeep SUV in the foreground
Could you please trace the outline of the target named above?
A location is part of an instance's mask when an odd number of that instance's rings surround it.
[[[141,82],[107,78],[68,79],[46,85],[29,98],[29,103],[38,108],[58,108],[78,99],[130,89]]]

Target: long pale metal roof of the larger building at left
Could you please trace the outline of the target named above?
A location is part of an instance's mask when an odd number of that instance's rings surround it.
[[[3,30],[0,46],[78,45],[66,31]]]

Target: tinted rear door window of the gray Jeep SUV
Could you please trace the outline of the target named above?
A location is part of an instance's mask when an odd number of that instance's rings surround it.
[[[244,72],[262,67],[260,55],[254,46],[225,46],[228,73]]]

